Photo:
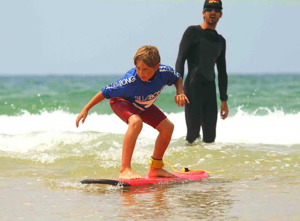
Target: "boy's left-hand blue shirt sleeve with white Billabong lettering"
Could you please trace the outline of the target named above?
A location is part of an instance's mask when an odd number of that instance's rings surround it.
[[[128,97],[128,93],[132,91],[133,82],[136,81],[134,76],[125,75],[123,78],[102,88],[102,94],[106,99],[113,97]]]

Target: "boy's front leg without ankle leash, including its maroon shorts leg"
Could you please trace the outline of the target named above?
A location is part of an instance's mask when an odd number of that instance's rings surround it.
[[[138,115],[139,112],[129,101],[122,98],[110,99],[110,106],[113,109],[113,112],[115,112],[122,121],[128,124],[128,129],[123,139],[122,163],[119,179],[140,179],[142,176],[138,175],[131,169],[131,158],[134,146],[143,127],[143,122]]]

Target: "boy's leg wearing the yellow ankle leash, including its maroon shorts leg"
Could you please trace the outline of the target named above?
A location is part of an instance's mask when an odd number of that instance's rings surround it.
[[[151,105],[151,107],[140,114],[143,122],[149,124],[158,130],[159,134],[155,141],[155,148],[152,157],[154,159],[162,160],[164,153],[170,143],[174,125],[171,121],[158,109],[155,105]],[[155,168],[150,166],[148,170],[149,177],[175,177],[176,175],[167,172],[162,168]]]

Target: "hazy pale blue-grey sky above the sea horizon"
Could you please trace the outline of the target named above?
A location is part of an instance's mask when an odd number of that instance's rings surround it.
[[[0,73],[125,73],[143,45],[175,67],[204,0],[0,0]],[[227,72],[300,72],[299,0],[223,0]],[[298,28],[297,28],[298,27]]]

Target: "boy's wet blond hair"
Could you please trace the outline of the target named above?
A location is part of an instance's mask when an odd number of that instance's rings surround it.
[[[134,65],[137,61],[142,61],[147,66],[155,68],[157,64],[161,63],[161,56],[155,46],[144,45],[137,50],[137,53],[133,58]]]

